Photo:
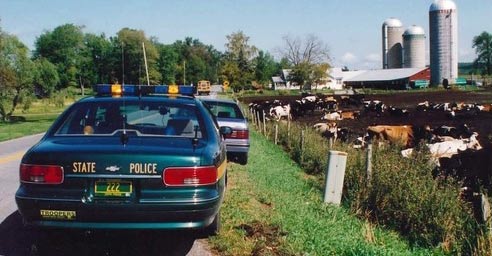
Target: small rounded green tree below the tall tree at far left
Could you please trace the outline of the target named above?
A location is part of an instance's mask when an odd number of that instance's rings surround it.
[[[56,66],[46,58],[40,58],[34,61],[34,86],[37,95],[51,96],[60,83],[60,77]]]

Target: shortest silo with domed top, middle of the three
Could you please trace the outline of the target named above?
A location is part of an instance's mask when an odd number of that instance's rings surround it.
[[[425,67],[425,31],[422,27],[413,25],[403,33],[403,67]]]

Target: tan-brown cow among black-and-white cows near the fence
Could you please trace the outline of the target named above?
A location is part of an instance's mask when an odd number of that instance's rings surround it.
[[[420,140],[430,140],[432,137],[429,126],[412,125],[375,125],[367,127],[369,140],[385,140],[391,144],[413,147]]]

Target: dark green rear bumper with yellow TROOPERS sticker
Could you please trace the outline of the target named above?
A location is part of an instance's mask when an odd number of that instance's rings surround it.
[[[128,203],[116,200],[66,201],[16,195],[16,203],[28,226],[75,229],[201,229],[212,223],[222,196],[195,202]],[[41,210],[63,213],[41,216]],[[70,215],[70,219],[66,219]]]

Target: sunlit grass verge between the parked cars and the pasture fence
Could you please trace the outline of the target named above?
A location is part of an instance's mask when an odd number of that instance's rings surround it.
[[[315,176],[255,131],[247,166],[231,164],[223,230],[211,239],[221,255],[439,255],[410,246],[348,209],[322,201]],[[314,185],[313,185],[314,184]]]

